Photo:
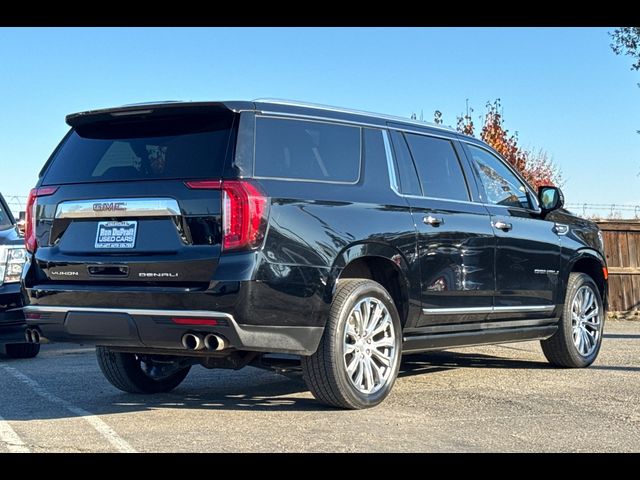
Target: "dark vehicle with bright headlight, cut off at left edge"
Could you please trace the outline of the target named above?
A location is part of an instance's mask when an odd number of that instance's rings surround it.
[[[26,343],[20,275],[26,260],[24,239],[0,194],[0,345],[13,358],[35,357],[38,343]]]

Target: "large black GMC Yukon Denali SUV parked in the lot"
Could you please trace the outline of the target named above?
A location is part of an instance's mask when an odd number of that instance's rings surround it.
[[[294,354],[317,399],[363,408],[402,353],[540,339],[555,365],[598,354],[598,228],[474,138],[268,100],[67,123],[28,202],[29,335],[95,343],[119,389]]]

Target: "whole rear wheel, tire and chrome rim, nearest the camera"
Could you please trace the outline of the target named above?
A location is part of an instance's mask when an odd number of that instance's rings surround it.
[[[401,350],[400,316],[389,293],[372,280],[341,280],[318,350],[302,358],[302,373],[322,403],[373,407],[391,391]]]

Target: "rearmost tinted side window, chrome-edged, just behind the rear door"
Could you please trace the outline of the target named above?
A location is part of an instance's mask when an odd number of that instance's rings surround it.
[[[359,127],[279,118],[256,119],[256,177],[355,183]]]

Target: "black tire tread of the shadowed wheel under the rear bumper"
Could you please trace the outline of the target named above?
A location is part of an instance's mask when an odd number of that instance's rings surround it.
[[[142,369],[142,357],[135,353],[112,352],[106,347],[96,347],[96,357],[109,383],[129,393],[169,392],[182,383],[191,369],[189,365],[161,378],[153,378]]]

